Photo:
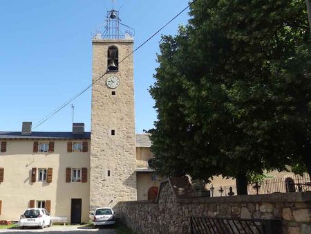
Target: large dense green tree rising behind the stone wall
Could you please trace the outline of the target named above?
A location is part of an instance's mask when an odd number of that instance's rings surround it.
[[[209,179],[290,165],[311,174],[311,57],[306,4],[197,0],[163,36],[150,89],[160,174]]]

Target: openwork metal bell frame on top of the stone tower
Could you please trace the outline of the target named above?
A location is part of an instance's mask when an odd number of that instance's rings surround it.
[[[119,11],[107,11],[106,27],[102,37],[104,39],[124,39],[124,35],[120,32],[120,21]]]

